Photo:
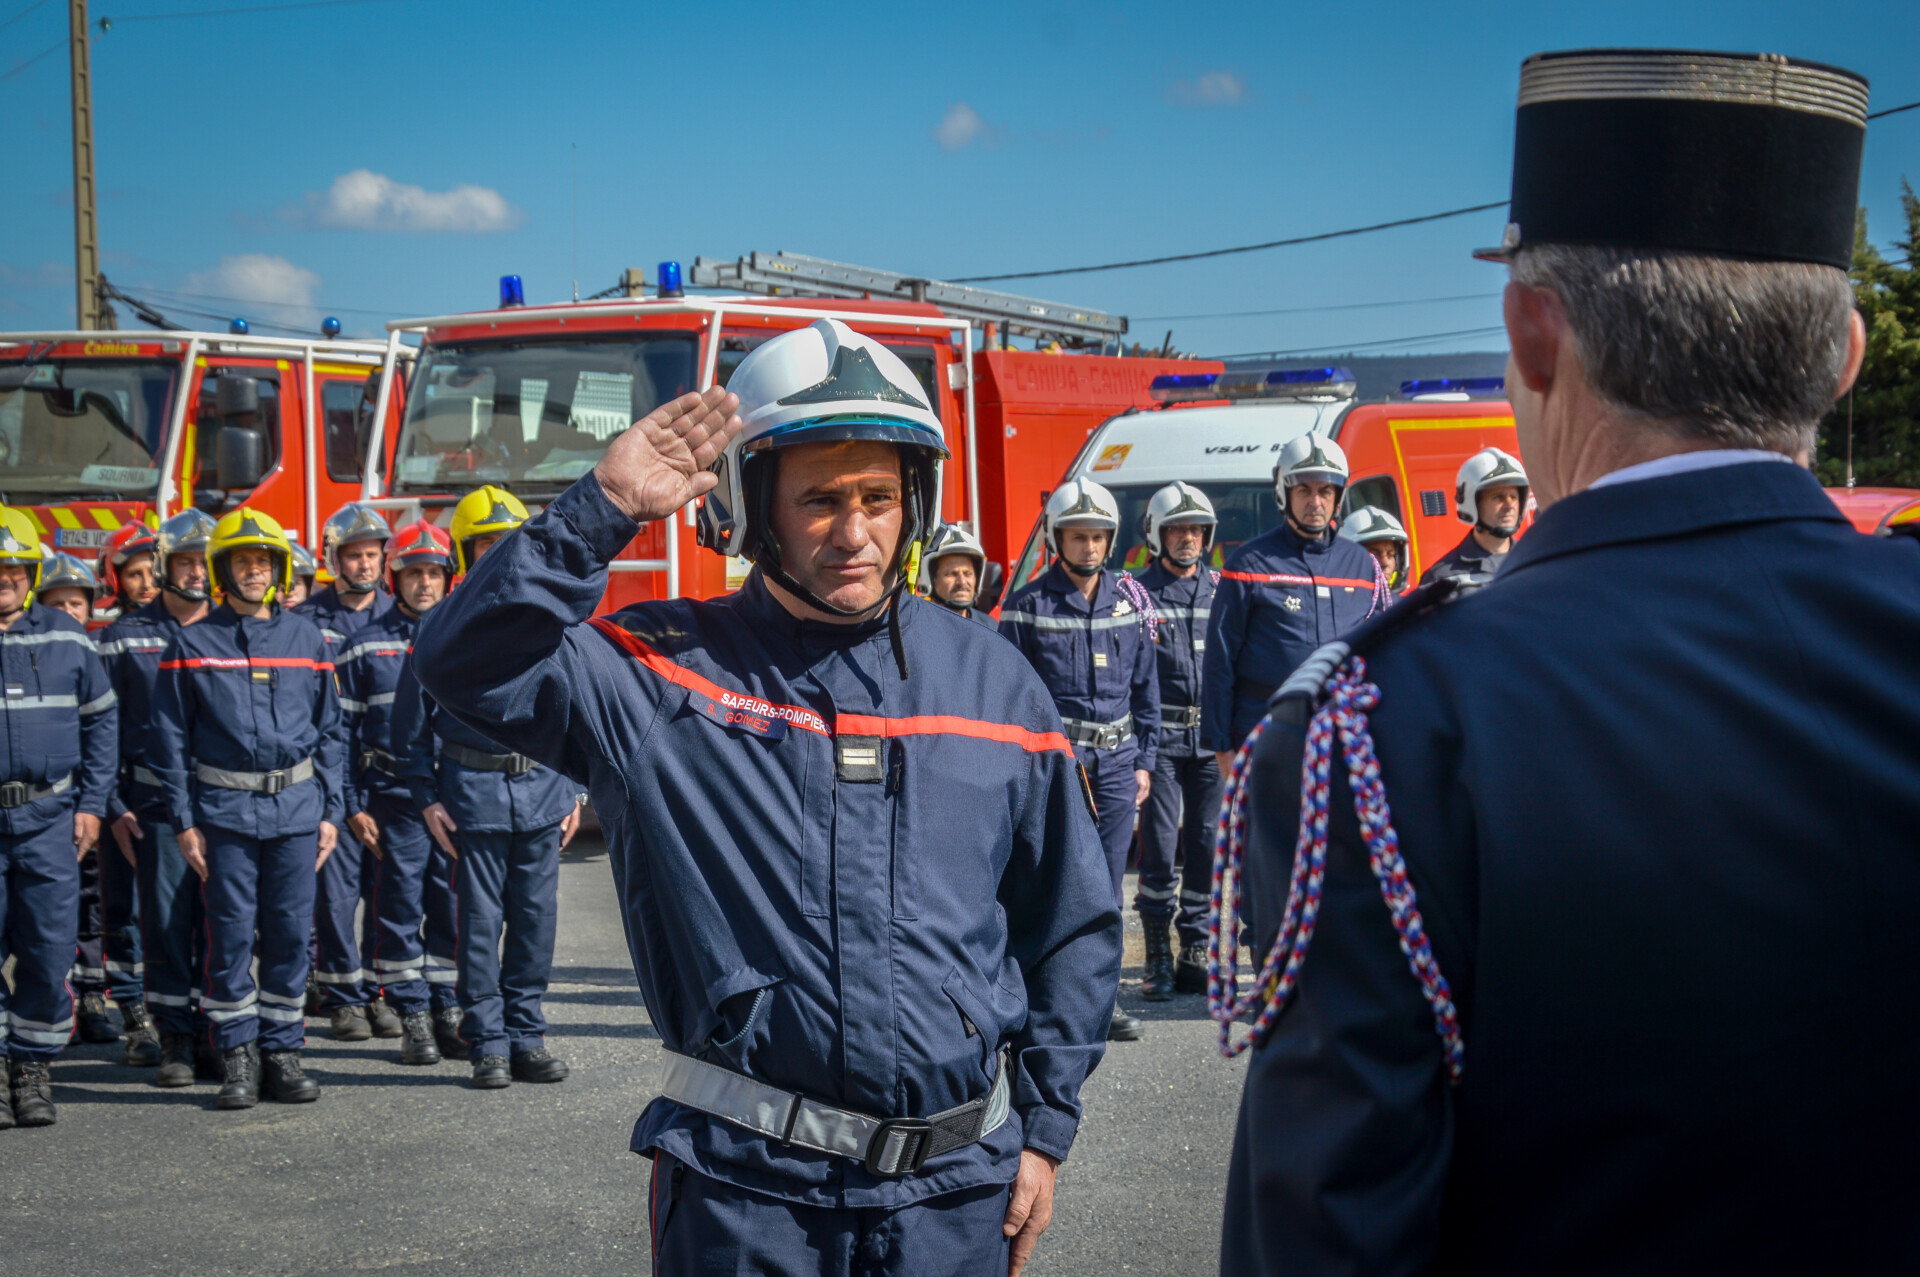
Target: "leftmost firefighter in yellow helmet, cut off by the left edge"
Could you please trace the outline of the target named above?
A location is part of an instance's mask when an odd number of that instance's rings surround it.
[[[46,553],[25,511],[0,507],[0,1127],[52,1125],[48,1060],[73,1035],[81,860],[113,789],[113,686],[84,626],[35,603]]]

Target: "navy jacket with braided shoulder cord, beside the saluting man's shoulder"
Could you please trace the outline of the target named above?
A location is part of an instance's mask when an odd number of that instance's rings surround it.
[[[1089,601],[1054,563],[1000,609],[1000,634],[1039,672],[1066,718],[1119,722],[1133,714],[1133,743],[1114,751],[1077,747],[1081,762],[1104,753],[1119,762],[1133,751],[1135,768],[1152,772],[1160,747],[1160,678],[1146,620],[1100,570]]]

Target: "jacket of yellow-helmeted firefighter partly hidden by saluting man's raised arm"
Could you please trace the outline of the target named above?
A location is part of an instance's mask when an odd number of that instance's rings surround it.
[[[397,614],[399,609],[394,611]],[[434,613],[422,616],[420,622],[432,618]],[[415,624],[415,638],[419,638],[419,624]],[[445,805],[453,824],[461,830],[530,833],[559,824],[580,805],[580,785],[549,766],[534,766],[513,776],[465,766],[457,759],[442,755],[442,741],[484,755],[511,751],[495,743],[492,735],[474,732],[445,712],[434,697],[420,691],[420,680],[415,678],[411,661],[399,670],[394,686],[394,714],[388,730],[392,732],[392,749],[399,757],[401,783],[413,793],[413,805],[420,810],[434,803]]]

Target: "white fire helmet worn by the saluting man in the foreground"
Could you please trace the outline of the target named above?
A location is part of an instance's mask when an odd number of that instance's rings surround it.
[[[941,419],[912,369],[874,338],[837,319],[818,319],[753,349],[728,390],[739,396],[743,426],[712,465],[720,482],[701,503],[699,543],[756,563],[785,590],[839,613],[780,563],[780,543],[768,528],[774,470],[768,461],[793,444],[876,440],[899,446],[900,453],[906,518],[895,568],[904,584],[922,538],[939,517],[937,467],[947,459]]]

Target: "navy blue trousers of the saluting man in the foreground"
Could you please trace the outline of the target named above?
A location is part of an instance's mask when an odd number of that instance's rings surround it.
[[[659,1277],[1004,1277],[1012,1185],[981,1185],[900,1206],[799,1206],[653,1154],[647,1194]]]

